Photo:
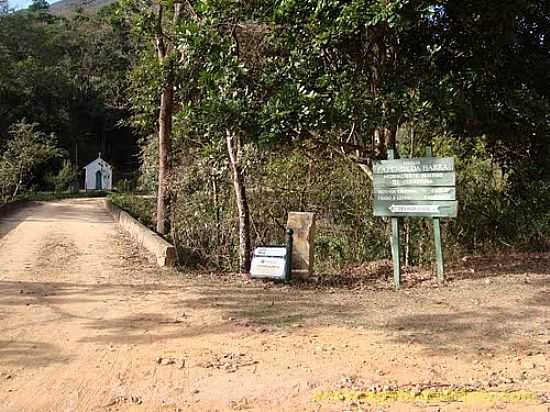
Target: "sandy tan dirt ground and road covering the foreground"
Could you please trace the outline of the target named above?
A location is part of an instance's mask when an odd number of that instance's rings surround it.
[[[0,225],[0,411],[547,412],[549,268],[471,259],[444,287],[399,292],[182,274],[148,263],[98,200],[36,203]],[[539,399],[314,400],[447,385]]]

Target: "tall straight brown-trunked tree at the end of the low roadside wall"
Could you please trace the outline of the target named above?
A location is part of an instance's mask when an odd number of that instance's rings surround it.
[[[184,17],[189,18],[190,3],[184,4],[179,0],[126,0],[120,3],[120,7],[137,42],[141,43],[140,59],[133,65],[130,74],[131,106],[134,109],[131,123],[148,134],[151,132],[151,118],[156,116],[156,230],[166,234],[169,230],[174,99],[180,58],[175,39],[180,21]]]

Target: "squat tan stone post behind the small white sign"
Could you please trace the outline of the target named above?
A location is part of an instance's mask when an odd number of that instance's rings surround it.
[[[289,212],[286,226],[294,231],[292,276],[311,276],[315,251],[315,213]]]

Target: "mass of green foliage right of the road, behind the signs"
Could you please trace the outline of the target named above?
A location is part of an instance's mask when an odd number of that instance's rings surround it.
[[[460,211],[444,224],[448,257],[543,249],[547,3],[191,2],[178,27],[166,23],[175,49],[159,65],[149,42],[152,4],[125,1],[121,10],[142,43],[129,76],[128,122],[144,139],[142,186],[155,189],[152,136],[172,73],[170,236],[196,263],[236,267],[228,134],[242,143],[254,243],[282,242],[289,211],[314,211],[321,270],[388,257],[388,224],[372,216],[371,182],[356,167],[384,157],[374,141],[380,130],[396,134],[382,146],[396,143],[402,157],[423,156],[427,145],[455,157]],[[430,222],[411,219],[404,228],[408,262],[431,262]]]

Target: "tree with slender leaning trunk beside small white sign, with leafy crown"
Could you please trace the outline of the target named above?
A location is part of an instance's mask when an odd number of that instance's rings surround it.
[[[196,147],[230,171],[239,270],[244,273],[250,268],[252,245],[245,152],[257,141],[254,115],[261,93],[252,90],[256,73],[248,70],[251,67],[243,58],[247,48],[239,44],[235,23],[239,11],[234,4],[202,5],[200,13],[182,27],[178,47],[185,50],[185,59],[180,75],[187,80],[181,85],[182,110],[177,118],[185,149]]]

